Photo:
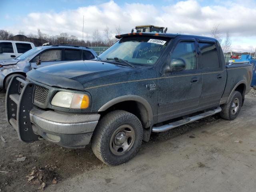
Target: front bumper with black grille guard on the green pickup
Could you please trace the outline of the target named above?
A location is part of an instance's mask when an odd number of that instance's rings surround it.
[[[24,84],[20,93],[20,83]],[[34,83],[13,77],[6,92],[6,117],[20,140],[44,138],[66,148],[82,148],[92,137],[100,114],[42,110],[33,105]],[[41,137],[42,138],[41,138]]]

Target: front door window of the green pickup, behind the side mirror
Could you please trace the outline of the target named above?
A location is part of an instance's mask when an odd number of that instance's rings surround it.
[[[197,69],[196,48],[194,42],[179,42],[171,53],[172,59],[181,59],[185,62],[184,70]]]

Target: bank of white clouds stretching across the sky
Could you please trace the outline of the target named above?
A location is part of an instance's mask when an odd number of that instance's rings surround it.
[[[153,24],[168,27],[170,33],[196,34],[210,36],[214,25],[219,25],[224,34],[228,31],[233,40],[233,49],[250,50],[256,46],[256,11],[255,3],[248,0],[251,6],[240,3],[240,0],[228,1],[226,6],[223,1],[215,0],[214,6],[201,6],[200,1],[187,0],[176,4],[157,7],[152,4],[126,3],[118,5],[117,1],[84,6],[63,12],[38,12],[30,13],[23,18],[18,26],[6,27],[17,33],[19,30],[26,34],[36,33],[37,29],[50,35],[68,32],[82,38],[82,19],[85,16],[85,36],[92,36],[98,28],[103,33],[106,25],[114,32],[115,26],[120,25],[123,32],[130,32],[136,25]],[[244,44],[244,38],[251,38]],[[239,39],[238,39],[239,38]]]

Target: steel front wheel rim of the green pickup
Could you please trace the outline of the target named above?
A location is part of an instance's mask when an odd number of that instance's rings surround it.
[[[134,140],[134,128],[127,124],[121,125],[114,131],[110,138],[110,151],[114,155],[123,155],[132,148]]]

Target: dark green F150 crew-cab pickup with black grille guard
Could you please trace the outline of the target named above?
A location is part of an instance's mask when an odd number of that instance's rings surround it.
[[[220,113],[238,115],[252,65],[226,66],[217,40],[202,36],[118,35],[95,60],[46,66],[13,77],[6,116],[24,142],[67,148],[92,142],[109,165],[132,158],[151,132]]]

